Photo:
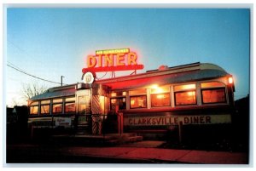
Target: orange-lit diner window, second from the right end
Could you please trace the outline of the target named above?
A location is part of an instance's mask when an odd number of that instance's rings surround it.
[[[195,105],[195,84],[174,86],[175,105]]]

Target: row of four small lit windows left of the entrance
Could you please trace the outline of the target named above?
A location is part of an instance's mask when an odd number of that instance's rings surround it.
[[[51,105],[52,107],[50,107],[50,104],[52,104]],[[65,113],[73,113],[76,111],[75,97],[68,97],[65,99],[61,99],[61,98],[53,99],[52,102],[51,100],[42,100],[40,105],[39,105],[39,101],[33,101],[30,104],[30,114],[38,115],[39,106],[40,106],[40,114],[49,114],[49,113],[61,114],[63,111],[63,104],[64,104]]]

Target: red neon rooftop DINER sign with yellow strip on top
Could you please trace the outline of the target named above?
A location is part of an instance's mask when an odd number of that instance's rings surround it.
[[[127,71],[142,70],[143,65],[137,64],[137,54],[131,52],[130,48],[117,48],[107,50],[96,50],[96,55],[88,55],[87,71]]]

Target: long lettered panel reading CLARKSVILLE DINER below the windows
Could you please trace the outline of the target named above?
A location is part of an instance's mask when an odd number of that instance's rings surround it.
[[[182,122],[183,124],[231,123],[231,117],[230,115],[187,116],[187,117],[155,116],[155,117],[126,117],[124,119],[125,126],[178,125],[180,122]]]

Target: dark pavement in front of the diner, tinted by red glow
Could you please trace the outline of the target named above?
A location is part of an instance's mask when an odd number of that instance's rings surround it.
[[[162,141],[116,146],[7,145],[8,163],[247,164],[247,153],[158,148]]]

